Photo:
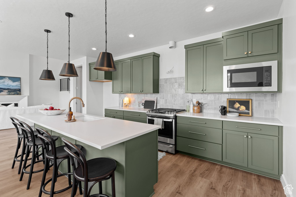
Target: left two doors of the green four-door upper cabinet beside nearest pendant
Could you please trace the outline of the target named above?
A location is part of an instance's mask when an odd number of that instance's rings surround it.
[[[112,93],[131,93],[131,60],[115,63],[112,72]]]

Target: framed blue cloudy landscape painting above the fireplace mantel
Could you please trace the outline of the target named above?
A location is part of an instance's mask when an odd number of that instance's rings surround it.
[[[20,77],[0,76],[0,95],[21,95]]]

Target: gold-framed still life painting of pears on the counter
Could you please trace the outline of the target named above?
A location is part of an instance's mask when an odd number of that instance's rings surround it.
[[[227,99],[227,111],[252,116],[252,99]]]

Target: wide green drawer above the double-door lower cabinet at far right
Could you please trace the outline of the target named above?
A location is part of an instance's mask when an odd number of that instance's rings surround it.
[[[223,129],[279,136],[279,127],[271,125],[223,121]]]

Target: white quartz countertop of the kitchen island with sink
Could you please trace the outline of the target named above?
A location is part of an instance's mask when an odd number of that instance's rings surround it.
[[[73,115],[75,115],[76,118],[81,115],[88,115],[101,119],[89,122],[82,122],[77,119],[75,122],[67,123],[65,122],[66,114],[66,112],[60,115],[26,113],[17,114],[17,116],[98,149],[105,149],[160,128],[160,126],[152,124],[82,113],[73,113]]]

